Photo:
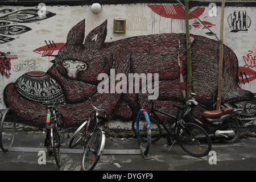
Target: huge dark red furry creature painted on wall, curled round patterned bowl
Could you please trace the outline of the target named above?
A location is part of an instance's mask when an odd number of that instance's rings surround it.
[[[105,42],[106,27],[107,21],[85,38],[85,20],[76,24],[46,73],[26,73],[6,86],[6,106],[12,107],[28,123],[39,126],[46,121],[44,102],[62,100],[67,104],[59,105],[59,110],[72,126],[88,117],[93,108],[87,98],[93,97],[93,104],[106,109],[114,118],[131,119],[146,101],[147,94],[99,93],[97,86],[102,80],[98,80],[98,75],[110,75],[110,70],[114,69],[115,76],[118,73],[126,76],[158,73],[159,94],[155,106],[174,114],[176,110],[172,105],[184,104],[176,62],[179,52],[186,80],[185,34],[135,36]],[[192,37],[192,91],[197,94],[196,100],[205,104],[205,98],[217,92],[218,42],[204,36]],[[254,97],[253,93],[239,87],[237,73],[237,57],[232,49],[224,46],[222,102]]]

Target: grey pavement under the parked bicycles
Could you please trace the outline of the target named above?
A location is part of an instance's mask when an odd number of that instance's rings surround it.
[[[70,139],[61,146],[61,167],[58,168],[54,156],[46,154],[46,164],[39,164],[46,151],[44,147],[45,133],[17,133],[13,148],[0,152],[1,171],[80,171],[82,146],[79,144],[72,150],[68,148]],[[69,133],[72,136],[72,133]],[[179,144],[163,147],[167,142],[162,138],[151,144],[150,159],[144,159],[136,138],[106,138],[104,154],[98,161],[94,171],[117,173],[118,171],[237,171],[256,170],[256,138],[241,138],[237,143],[225,144],[213,142],[212,152],[203,158],[195,158],[185,153]],[[146,147],[146,144],[144,144]],[[216,154],[216,155],[215,155]],[[214,158],[216,156],[216,158]],[[215,160],[216,159],[216,160]],[[112,172],[110,172],[112,171]],[[100,175],[100,179],[104,178]],[[105,176],[106,177],[106,176]],[[126,177],[128,177],[126,175]],[[131,177],[131,176],[130,176]],[[138,176],[137,176],[138,177]]]

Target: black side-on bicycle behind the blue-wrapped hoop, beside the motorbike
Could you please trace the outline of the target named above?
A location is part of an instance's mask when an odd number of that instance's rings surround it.
[[[168,113],[164,113],[161,110],[154,108],[154,102],[152,100],[147,101],[146,105],[151,102],[151,113],[149,115],[150,118],[150,124],[151,124],[151,142],[157,142],[162,137],[162,128],[160,125],[163,126],[164,130],[167,131],[167,142],[171,144],[171,147],[173,144],[177,141],[180,144],[180,147],[187,152],[191,156],[195,157],[202,157],[205,155],[208,155],[209,151],[212,148],[212,141],[210,140],[210,137],[208,133],[199,125],[196,125],[192,122],[185,122],[184,119],[187,119],[186,117],[192,117],[192,115],[185,115],[185,114],[191,114],[189,112],[186,112],[186,109],[188,108],[186,105],[174,105],[177,107],[178,112],[177,116],[170,115]],[[183,111],[183,118],[178,118],[180,111]],[[164,124],[163,121],[159,118],[157,113],[161,113],[163,115],[166,115],[167,117],[171,117],[175,119],[175,122],[172,123],[171,129],[169,130],[167,126]],[[155,118],[152,117],[152,115],[155,116]],[[143,122],[145,117],[141,115],[141,121]],[[137,118],[133,120],[132,128],[134,134],[137,136]],[[146,121],[144,121],[146,123]],[[139,128],[139,133],[141,135],[141,140],[143,142],[146,142],[147,138],[144,138],[146,135],[146,126],[141,125],[142,127]],[[170,147],[170,149],[171,149]],[[170,149],[168,151],[170,151]],[[168,152],[167,151],[167,152]]]

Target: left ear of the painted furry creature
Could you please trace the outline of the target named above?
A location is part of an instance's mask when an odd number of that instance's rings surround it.
[[[82,45],[85,34],[85,19],[77,23],[69,32],[67,36],[67,45]]]

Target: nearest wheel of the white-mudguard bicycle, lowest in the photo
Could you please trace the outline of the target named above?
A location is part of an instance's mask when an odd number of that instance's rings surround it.
[[[101,155],[101,147],[105,145],[105,134],[102,130],[97,129],[92,136],[88,138],[82,155],[82,170],[92,171]]]

